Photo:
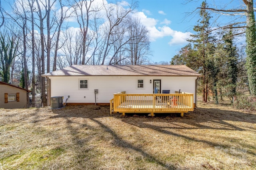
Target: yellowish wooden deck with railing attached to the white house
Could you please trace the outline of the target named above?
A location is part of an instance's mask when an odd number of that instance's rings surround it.
[[[114,94],[110,100],[110,114],[125,113],[184,113],[194,110],[194,95],[182,94]]]

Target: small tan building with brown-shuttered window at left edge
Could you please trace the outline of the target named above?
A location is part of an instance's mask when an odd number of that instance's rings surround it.
[[[0,108],[27,108],[27,93],[29,91],[0,81]]]

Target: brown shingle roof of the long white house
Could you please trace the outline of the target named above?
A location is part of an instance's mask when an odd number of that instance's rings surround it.
[[[186,65],[72,65],[42,76],[201,76]]]

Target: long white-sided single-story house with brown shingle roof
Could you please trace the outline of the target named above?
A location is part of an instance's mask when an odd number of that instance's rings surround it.
[[[121,91],[196,94],[196,79],[201,75],[185,65],[72,65],[43,76],[50,79],[51,97],[63,96],[67,104],[95,103],[94,90],[98,89],[96,103],[103,104]]]

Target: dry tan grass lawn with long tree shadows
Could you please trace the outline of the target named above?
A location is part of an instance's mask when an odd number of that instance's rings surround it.
[[[256,113],[198,103],[184,117],[146,115],[0,109],[0,169],[256,169]]]

